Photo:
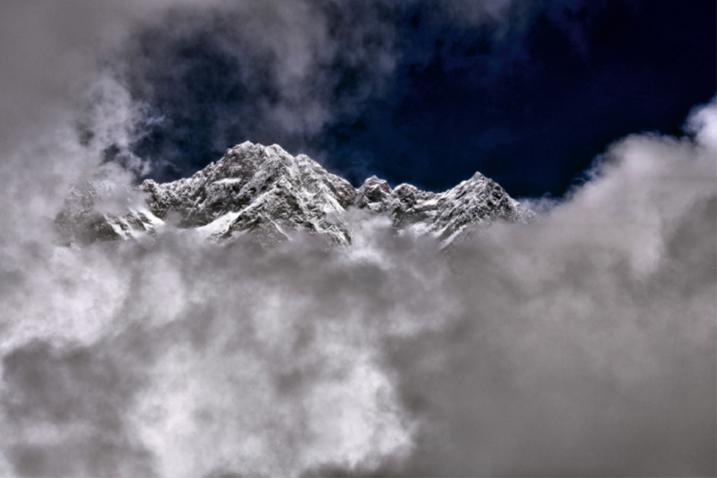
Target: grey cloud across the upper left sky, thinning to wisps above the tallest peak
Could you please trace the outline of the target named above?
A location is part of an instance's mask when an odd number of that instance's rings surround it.
[[[161,178],[244,139],[309,148],[329,122],[386,93],[402,56],[396,20],[419,3],[4,2],[0,150],[56,135],[64,121],[79,135],[65,140],[93,161],[141,175],[152,164]],[[513,25],[529,11],[436,2],[427,21]]]

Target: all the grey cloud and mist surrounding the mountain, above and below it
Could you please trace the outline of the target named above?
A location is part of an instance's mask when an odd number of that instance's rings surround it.
[[[717,474],[714,100],[684,137],[619,140],[565,197],[527,201],[533,222],[448,253],[359,211],[350,248],[220,245],[170,225],[67,248],[54,219],[70,187],[111,180],[105,206],[126,207],[143,200],[136,178],[190,166],[170,142],[137,148],[163,121],[143,35],[163,51],[245,19],[221,51],[270,58],[276,90],[242,131],[298,142],[379,94],[398,53],[386,23],[345,59],[312,2],[38,5],[0,16],[22,39],[0,42],[14,66],[0,83],[0,474]],[[446,18],[505,22],[510,4],[479,5]],[[333,101],[316,58],[371,76]]]

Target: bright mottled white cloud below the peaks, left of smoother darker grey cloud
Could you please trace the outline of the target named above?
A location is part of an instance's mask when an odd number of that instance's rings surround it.
[[[454,305],[435,245],[419,261],[376,228],[367,239],[388,250],[179,235],[27,259],[4,300],[13,473],[287,475],[407,455],[412,419],[382,341]]]

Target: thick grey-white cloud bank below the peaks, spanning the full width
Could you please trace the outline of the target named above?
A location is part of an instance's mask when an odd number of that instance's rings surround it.
[[[716,111],[449,256],[62,248],[5,196],[2,474],[714,474]]]

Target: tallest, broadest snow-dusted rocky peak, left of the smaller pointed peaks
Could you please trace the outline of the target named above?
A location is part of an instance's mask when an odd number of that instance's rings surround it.
[[[229,239],[253,232],[268,242],[287,230],[322,234],[338,244],[350,242],[341,214],[356,190],[319,163],[291,156],[277,145],[242,143],[191,178],[140,189],[160,219],[174,214],[177,225]]]

